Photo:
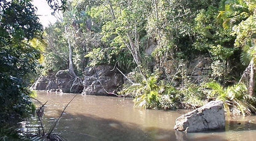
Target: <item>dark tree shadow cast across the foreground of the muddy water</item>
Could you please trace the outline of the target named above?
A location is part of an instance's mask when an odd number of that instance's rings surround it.
[[[60,111],[59,111],[60,112]],[[168,123],[167,123],[168,124]],[[226,140],[221,135],[191,136],[191,133],[161,128],[142,128],[134,123],[100,118],[94,115],[66,113],[55,132],[67,140]],[[219,131],[218,131],[219,132]]]

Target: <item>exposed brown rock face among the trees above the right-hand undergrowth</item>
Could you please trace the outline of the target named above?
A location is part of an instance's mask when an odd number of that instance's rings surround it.
[[[196,84],[207,80],[212,74],[211,64],[212,60],[208,55],[197,55],[186,61],[173,58],[162,60],[156,63],[155,69],[161,70],[162,79],[169,79],[169,82],[179,87],[185,77]]]

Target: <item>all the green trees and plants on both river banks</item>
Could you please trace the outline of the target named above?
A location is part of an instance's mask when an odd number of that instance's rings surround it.
[[[51,2],[58,22],[43,34],[31,1],[0,2],[1,127],[32,110],[27,86],[39,63],[44,75],[68,69],[81,78],[87,66],[113,64],[130,80],[119,94],[144,108],[220,99],[226,109],[256,111],[255,1]],[[200,57],[209,58],[210,68],[198,80],[188,67]]]

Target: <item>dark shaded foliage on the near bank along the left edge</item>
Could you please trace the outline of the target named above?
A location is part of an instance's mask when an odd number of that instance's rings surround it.
[[[31,74],[40,53],[28,42],[41,38],[31,1],[0,2],[0,126],[9,127],[33,112],[30,101]],[[1,131],[4,132],[4,131]],[[2,133],[1,133],[2,134]]]

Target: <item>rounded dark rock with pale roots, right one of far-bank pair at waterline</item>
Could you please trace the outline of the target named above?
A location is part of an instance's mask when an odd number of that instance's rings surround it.
[[[87,67],[84,71],[84,90],[82,94],[110,95],[115,93],[124,83],[122,74],[113,66],[102,64],[96,67]],[[108,93],[106,93],[108,92]]]

